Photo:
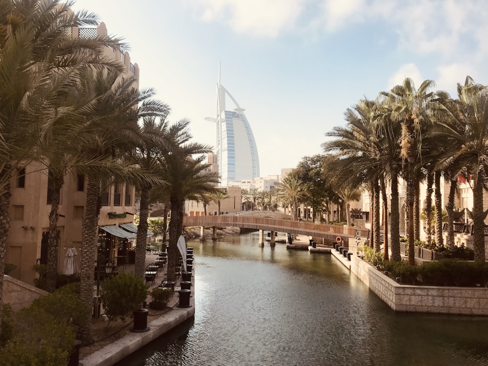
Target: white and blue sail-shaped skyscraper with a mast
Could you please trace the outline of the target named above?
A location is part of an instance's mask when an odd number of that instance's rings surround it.
[[[234,104],[233,110],[228,110],[225,97]],[[221,185],[228,185],[229,181],[242,181],[259,177],[259,157],[251,126],[244,115],[244,109],[230,95],[227,89],[217,83],[217,117],[206,118],[215,122],[216,144],[215,154],[219,163]]]

